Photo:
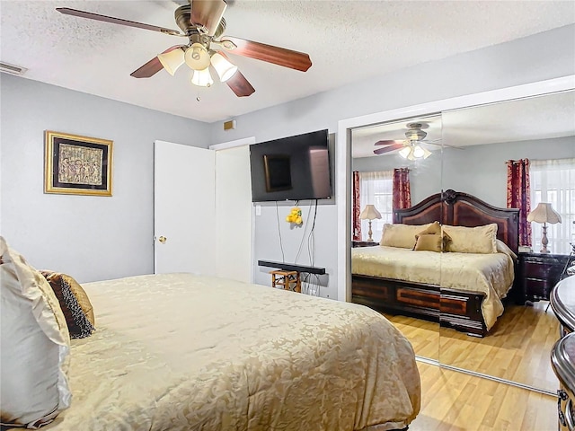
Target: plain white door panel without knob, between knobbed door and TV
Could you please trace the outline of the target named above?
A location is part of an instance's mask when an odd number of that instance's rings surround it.
[[[248,145],[216,152],[216,274],[252,281],[252,182]]]

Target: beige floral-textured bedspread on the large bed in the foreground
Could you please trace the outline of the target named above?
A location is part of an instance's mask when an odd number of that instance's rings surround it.
[[[410,343],[352,303],[190,274],[84,285],[56,430],[387,430],[420,409]]]

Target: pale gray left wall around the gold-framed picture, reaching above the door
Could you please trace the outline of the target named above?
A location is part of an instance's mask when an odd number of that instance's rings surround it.
[[[80,282],[153,272],[154,141],[205,147],[208,124],[12,75],[0,85],[6,241]],[[113,196],[44,194],[44,130],[114,141]]]

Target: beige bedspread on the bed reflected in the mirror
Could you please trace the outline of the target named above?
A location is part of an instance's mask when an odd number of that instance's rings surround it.
[[[351,272],[485,294],[482,314],[487,330],[503,313],[504,298],[513,285],[513,259],[505,253],[438,253],[395,247],[351,250]]]

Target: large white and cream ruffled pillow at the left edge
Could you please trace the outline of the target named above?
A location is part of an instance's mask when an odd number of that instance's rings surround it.
[[[40,427],[70,405],[70,338],[56,295],[0,236],[2,424]]]

